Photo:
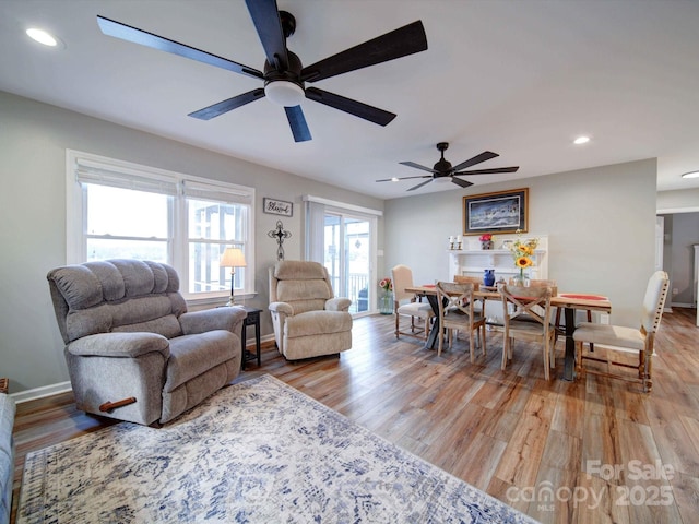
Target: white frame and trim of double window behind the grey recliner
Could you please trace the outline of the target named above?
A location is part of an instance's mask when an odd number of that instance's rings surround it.
[[[221,200],[228,201],[225,195],[230,195],[232,202],[249,205],[249,216],[245,235],[247,238],[230,239],[230,246],[245,246],[245,257],[247,266],[245,269],[244,288],[236,288],[236,296],[252,297],[254,291],[254,215],[256,195],[254,188],[234,183],[221,182],[181,172],[169,171],[156,167],[143,166],[105,156],[94,155],[74,150],[66,150],[66,262],[68,264],[80,264],[87,260],[86,253],[86,205],[84,191],[78,181],[78,170],[88,167],[95,172],[104,172],[105,176],[115,174],[138,179],[147,179],[153,183],[162,182],[165,186],[174,184],[176,194],[173,195],[170,223],[170,238],[173,242],[168,248],[168,263],[180,276],[180,293],[189,302],[217,302],[222,298],[228,298],[230,289],[221,291],[190,294],[189,282],[189,257],[188,257],[188,230],[187,230],[187,200],[185,188],[197,188],[214,195],[212,200],[218,200],[215,195],[224,195]],[[208,199],[205,199],[208,200]]]

